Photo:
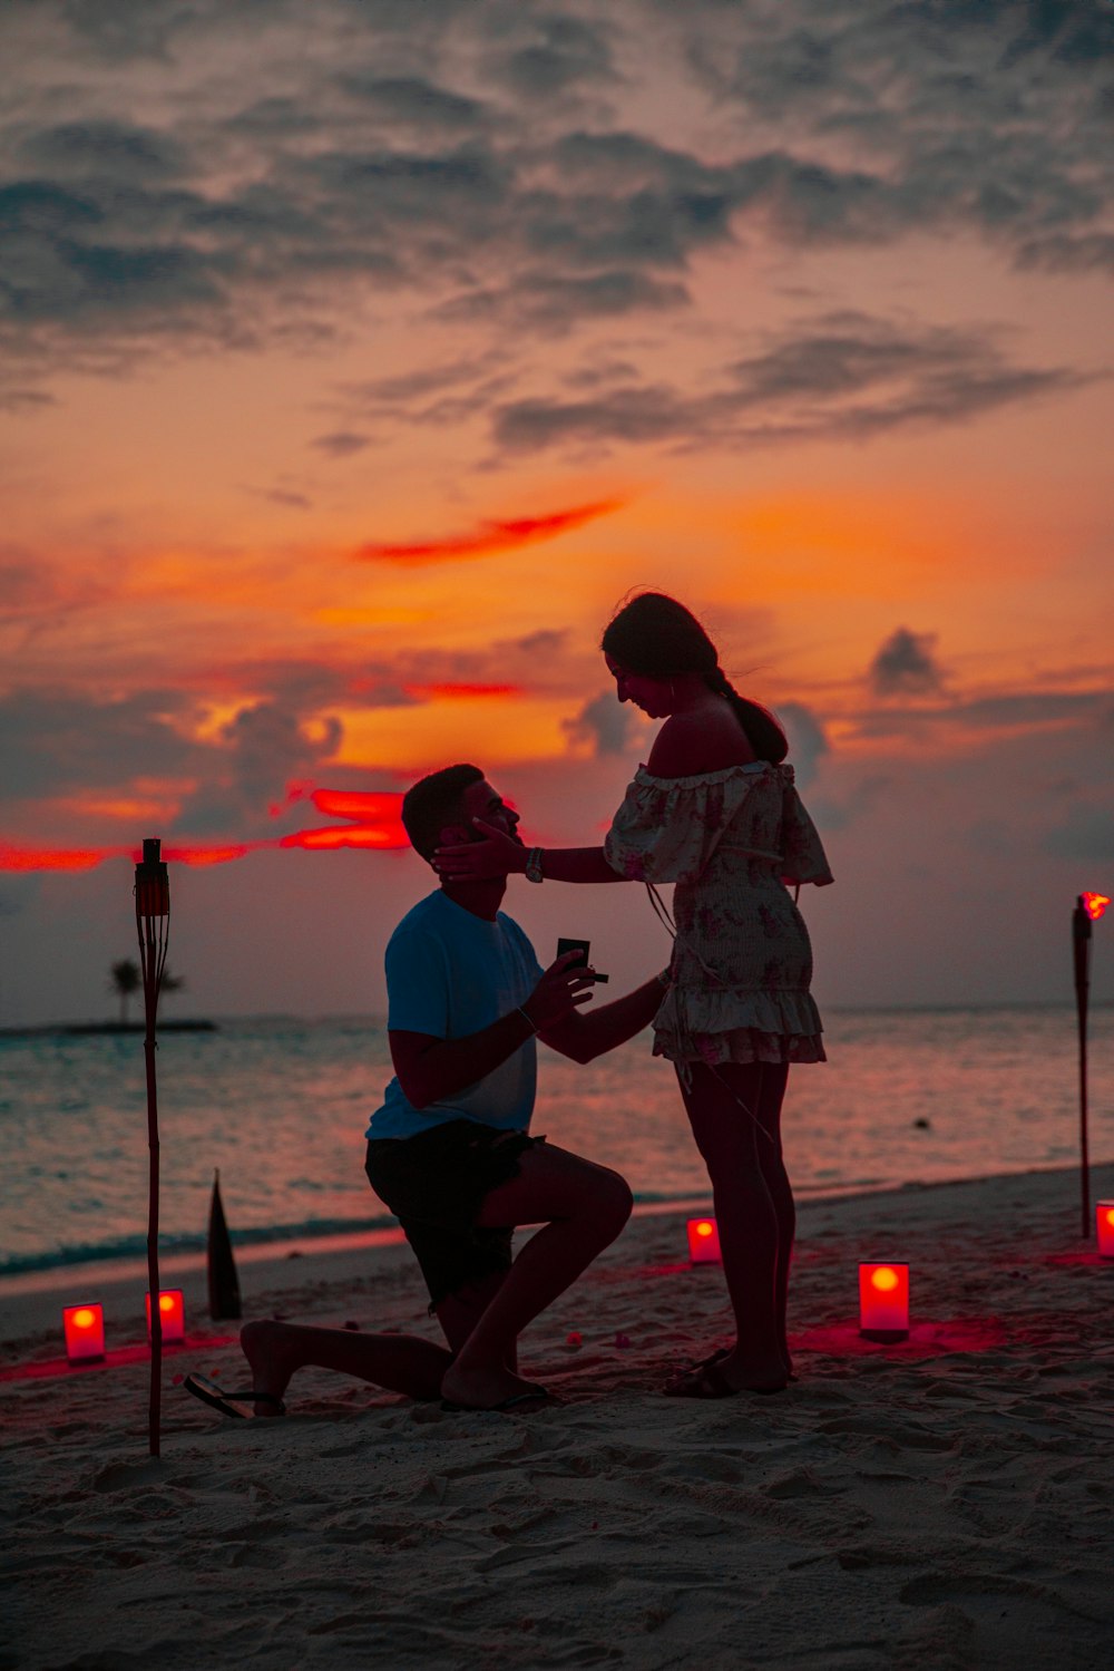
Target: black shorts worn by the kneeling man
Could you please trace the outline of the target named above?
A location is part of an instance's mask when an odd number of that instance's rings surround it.
[[[401,1223],[429,1288],[433,1312],[449,1293],[511,1268],[513,1225],[478,1225],[483,1201],[519,1156],[544,1138],[449,1120],[413,1138],[372,1138],[367,1180]]]

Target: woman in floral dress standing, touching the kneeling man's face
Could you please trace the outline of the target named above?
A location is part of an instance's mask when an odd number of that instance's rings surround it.
[[[610,622],[603,653],[618,700],[665,720],[603,847],[524,849],[478,820],[486,839],[441,851],[438,864],[453,876],[646,882],[660,911],[653,884],[676,884],[653,1049],[675,1064],[708,1168],[737,1338],[665,1390],[778,1392],[790,1377],[795,1228],[782,1101],[790,1063],[825,1059],[812,947],[788,886],[832,872],[782,764],[782,727],[738,695],[695,615],[645,592]]]

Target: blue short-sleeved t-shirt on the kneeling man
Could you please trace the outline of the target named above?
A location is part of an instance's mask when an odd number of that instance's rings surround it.
[[[441,889],[409,911],[387,942],[387,1028],[459,1039],[523,1004],[544,973],[518,922],[473,916]],[[533,1038],[513,1056],[441,1103],[414,1108],[397,1079],[371,1116],[369,1138],[413,1138],[449,1120],[524,1131],[534,1111]]]

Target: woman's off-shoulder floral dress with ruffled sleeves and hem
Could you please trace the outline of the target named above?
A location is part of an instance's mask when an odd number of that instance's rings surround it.
[[[830,882],[792,765],[651,777],[641,765],[603,844],[640,882],[676,882],[673,984],[655,1016],[670,1061],[825,1061],[812,946],[787,891]]]

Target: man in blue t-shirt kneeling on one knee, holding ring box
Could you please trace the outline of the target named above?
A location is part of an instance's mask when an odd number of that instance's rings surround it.
[[[436,847],[479,839],[473,819],[516,837],[518,814],[474,765],[434,772],[403,799],[406,832],[428,861]],[[418,1399],[441,1394],[459,1409],[546,1397],[518,1374],[518,1337],[618,1237],[631,1193],[616,1171],[529,1136],[536,1038],[588,1063],[650,1024],[663,986],[655,976],[581,1014],[591,974],[570,968],[576,952],[543,971],[499,911],[504,891],[504,877],[443,879],[386,954],[396,1076],[367,1128],[367,1176],[418,1255],[448,1348],[414,1335],[247,1323],[252,1387],[224,1395],[227,1414],[281,1412],[291,1375],[307,1364]],[[541,1228],[513,1260],[516,1225]]]

